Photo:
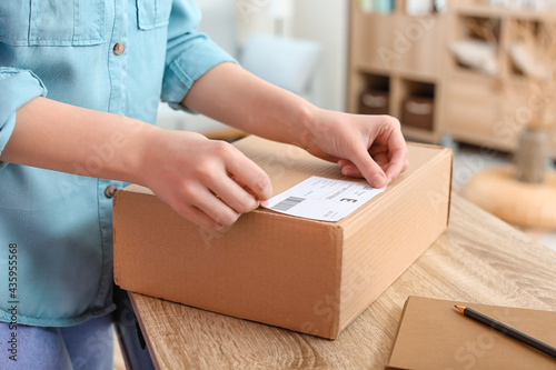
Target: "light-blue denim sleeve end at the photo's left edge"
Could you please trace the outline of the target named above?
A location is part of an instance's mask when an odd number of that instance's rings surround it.
[[[16,111],[37,97],[46,97],[47,89],[31,71],[0,67],[0,154],[16,126]],[[0,161],[0,169],[7,166]]]

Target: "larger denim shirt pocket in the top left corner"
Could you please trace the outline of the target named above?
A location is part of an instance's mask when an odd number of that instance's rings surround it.
[[[64,47],[105,42],[106,0],[0,1],[0,41]]]

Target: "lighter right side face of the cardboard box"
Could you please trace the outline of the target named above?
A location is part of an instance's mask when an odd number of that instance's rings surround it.
[[[448,223],[451,152],[410,144],[410,167],[388,197],[340,221],[345,230],[340,329],[385,291]]]

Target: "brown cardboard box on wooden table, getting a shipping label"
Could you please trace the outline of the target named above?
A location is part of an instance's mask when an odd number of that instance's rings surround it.
[[[249,137],[235,143],[275,193],[335,163]],[[113,201],[115,280],[121,288],[325,338],[337,338],[446,229],[451,151],[409,146],[409,169],[338,222],[257,209],[225,232],[188,222],[148,189]],[[354,179],[354,181],[357,181]]]

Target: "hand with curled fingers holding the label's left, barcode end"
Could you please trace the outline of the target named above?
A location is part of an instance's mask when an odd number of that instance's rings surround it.
[[[157,131],[141,182],[189,221],[219,230],[271,197],[268,176],[234,146],[193,132]]]

